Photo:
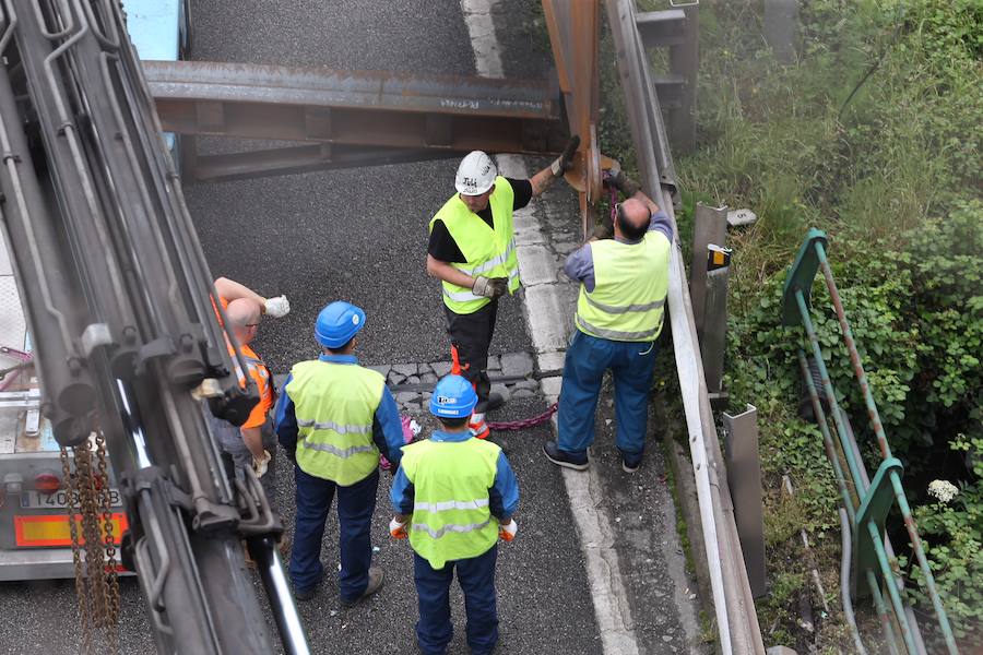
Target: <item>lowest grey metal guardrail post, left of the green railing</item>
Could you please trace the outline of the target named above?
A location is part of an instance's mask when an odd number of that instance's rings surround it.
[[[737,536],[751,593],[767,593],[765,571],[765,515],[761,507],[761,462],[758,458],[758,409],[754,405],[736,415],[724,413],[727,483],[734,499]]]

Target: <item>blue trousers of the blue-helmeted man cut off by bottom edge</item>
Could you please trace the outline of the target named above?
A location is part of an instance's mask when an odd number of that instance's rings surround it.
[[[467,616],[467,645],[474,655],[485,655],[498,643],[498,609],[495,598],[495,561],[498,547],[463,560],[450,561],[442,569],[413,553],[413,575],[419,598],[416,638],[424,655],[443,655],[454,634],[450,620],[450,585],[458,570],[458,584],[464,592]]]

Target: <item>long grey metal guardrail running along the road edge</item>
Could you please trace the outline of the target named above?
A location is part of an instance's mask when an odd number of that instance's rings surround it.
[[[628,122],[641,169],[642,187],[670,215],[675,227],[672,170],[659,97],[637,25],[632,0],[605,0],[618,52],[618,72]],[[677,231],[678,234],[678,231]],[[700,359],[678,238],[670,263],[668,307],[676,368],[697,483],[700,522],[710,571],[713,609],[723,653],[763,654],[754,598],[737,537],[723,456],[714,427]]]

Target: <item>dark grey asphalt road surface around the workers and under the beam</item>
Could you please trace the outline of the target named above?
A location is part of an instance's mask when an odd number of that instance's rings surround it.
[[[378,2],[260,0],[194,2],[193,58],[340,69],[389,69],[474,74],[459,0]],[[514,7],[512,7],[514,4]],[[540,76],[548,66],[525,26],[530,3],[496,12],[506,71]],[[502,24],[517,27],[502,29]],[[228,144],[213,144],[227,148]],[[212,272],[264,295],[286,294],[291,314],[262,325],[257,349],[274,372],[316,353],[312,325],[320,308],[346,299],[368,319],[359,356],[365,364],[447,358],[439,285],[424,270],[426,224],[453,193],[455,160],[267,178],[186,190]],[[519,301],[504,302],[493,352],[529,348]],[[499,419],[544,408],[540,398],[510,403]],[[599,653],[591,594],[558,472],[540,455],[548,428],[508,440],[523,500],[521,537],[500,548],[498,593],[502,652]],[[279,465],[281,507],[291,525],[293,483]],[[388,538],[386,483],[374,534],[387,569],[382,593],[355,609],[339,607],[336,584],[300,608],[316,653],[402,653],[415,647],[412,558]],[[323,561],[336,565],[335,514],[329,517]],[[451,652],[465,652],[463,610],[455,596]],[[72,581],[0,584],[0,653],[79,650]],[[271,626],[272,628],[272,626]],[[121,582],[120,650],[151,653],[153,639],[133,580]]]

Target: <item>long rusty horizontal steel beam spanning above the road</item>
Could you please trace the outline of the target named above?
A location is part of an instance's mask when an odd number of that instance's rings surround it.
[[[143,68],[164,129],[183,134],[531,155],[558,153],[567,139],[546,82],[199,61]]]

